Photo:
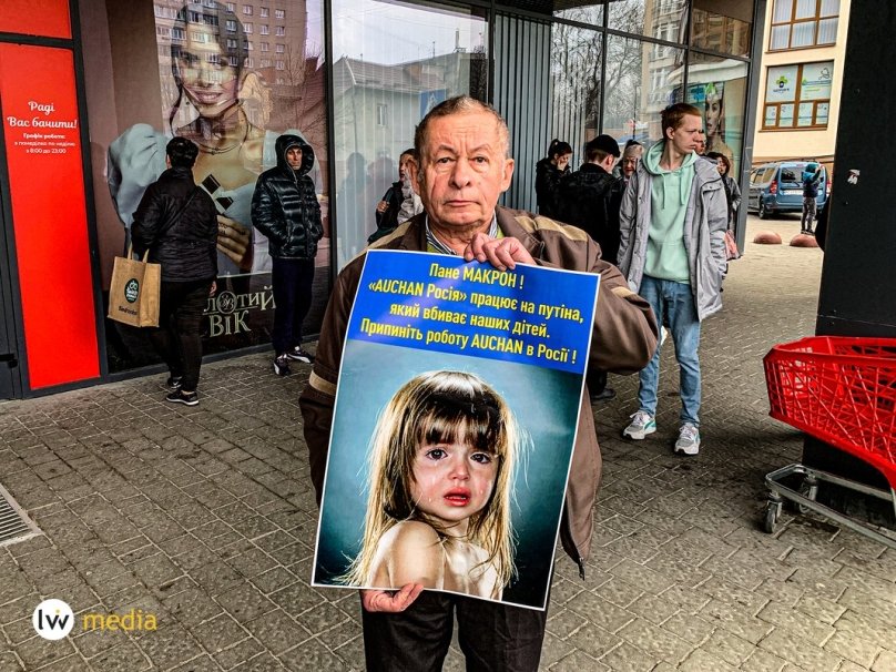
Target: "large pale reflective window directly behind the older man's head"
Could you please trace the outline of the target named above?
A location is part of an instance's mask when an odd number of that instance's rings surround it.
[[[477,11],[334,0],[339,268],[376,231],[377,204],[399,180],[399,157],[422,116],[461,93],[486,100],[488,24]]]

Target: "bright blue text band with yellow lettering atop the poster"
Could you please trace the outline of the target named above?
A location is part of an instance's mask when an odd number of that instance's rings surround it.
[[[461,279],[438,278],[430,275],[432,264],[440,267],[458,268]],[[590,325],[593,319],[594,297],[598,291],[599,276],[584,273],[558,273],[553,269],[546,269],[539,266],[527,266],[520,264],[516,271],[508,271],[505,279],[513,286],[501,286],[498,283],[479,283],[464,281],[464,269],[483,269],[492,272],[490,264],[479,264],[478,262],[465,263],[461,257],[436,254],[420,254],[410,252],[386,252],[370,251],[367,254],[364,273],[358,286],[358,294],[352,319],[348,325],[347,337],[352,339],[370,340],[388,345],[403,347],[426,348],[429,352],[451,353],[472,357],[485,357],[488,359],[505,359],[520,364],[533,364],[536,366],[557,368],[570,373],[583,373],[587,366],[587,353],[591,334]],[[393,292],[373,291],[371,285],[375,278],[386,281],[401,281],[405,287],[418,287],[413,294],[398,294]],[[398,283],[387,285],[395,289]],[[431,288],[436,292],[430,292]],[[462,292],[465,301],[446,301],[447,291]],[[422,295],[419,295],[419,294]],[[496,309],[488,306],[477,308],[471,303],[474,293],[483,296],[505,297],[516,299],[517,305],[525,299],[536,304],[536,313],[523,313],[519,308]],[[439,298],[442,296],[442,298]],[[419,306],[419,317],[408,315],[391,314],[394,305],[406,307]],[[513,335],[509,330],[489,329],[481,326],[461,325],[451,322],[440,322],[425,319],[424,310],[437,306],[442,310],[464,313],[469,315],[482,315],[509,319],[510,324],[517,322],[532,325],[547,325],[548,337],[538,334]],[[578,310],[581,322],[559,317],[548,318],[539,314],[540,306],[563,307]],[[371,334],[369,329],[365,333],[364,319],[377,323],[378,325],[393,325],[395,327],[416,327],[422,334],[427,332],[445,333],[450,343],[428,343],[426,338],[413,340],[406,337],[391,336],[385,334]],[[493,348],[476,348],[474,337],[498,336],[500,338],[510,337],[519,340],[523,348],[522,353],[499,352]],[[461,348],[457,340],[468,337],[467,346]],[[532,346],[533,355],[528,355],[526,346]]]

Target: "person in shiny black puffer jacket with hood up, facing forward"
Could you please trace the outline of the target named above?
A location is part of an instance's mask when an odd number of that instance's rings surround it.
[[[265,171],[252,196],[252,224],[268,241],[273,262],[274,373],[286,376],[289,360],[310,364],[302,348],[302,323],[312,305],[314,257],[324,236],[320,204],[308,171],[314,150],[298,135],[276,142],[277,165]]]

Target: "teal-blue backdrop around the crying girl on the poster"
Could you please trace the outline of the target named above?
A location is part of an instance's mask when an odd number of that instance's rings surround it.
[[[520,579],[505,590],[502,601],[541,608],[550,581],[581,378],[557,369],[358,340],[348,342],[344,355],[314,582],[334,584],[359,550],[367,508],[366,460],[379,411],[401,385],[430,370],[478,375],[503,396],[529,434],[528,468],[518,475],[511,512]]]

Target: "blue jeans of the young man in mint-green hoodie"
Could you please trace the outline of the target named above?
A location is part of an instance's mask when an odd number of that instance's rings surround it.
[[[679,362],[681,390],[681,422],[700,426],[700,319],[696,316],[691,286],[645,275],[639,294],[653,308],[659,324],[669,318],[672,339],[675,342],[675,359]],[[640,410],[656,415],[656,388],[660,384],[660,344],[650,363],[639,374],[638,390]]]

